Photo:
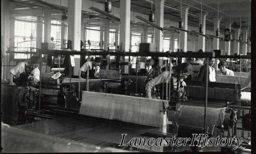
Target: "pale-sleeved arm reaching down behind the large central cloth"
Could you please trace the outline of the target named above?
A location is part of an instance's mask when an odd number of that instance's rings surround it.
[[[149,81],[146,85],[146,97],[147,98],[152,98],[151,97],[151,90],[156,86],[159,85],[163,82],[166,82],[169,79],[170,73],[169,71],[165,71],[161,73],[159,76],[154,78],[153,80]]]

